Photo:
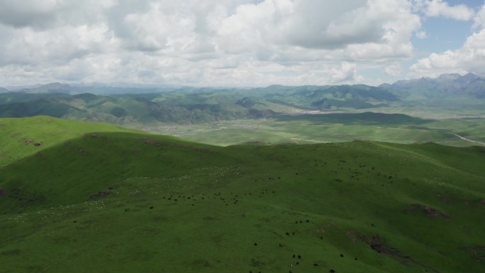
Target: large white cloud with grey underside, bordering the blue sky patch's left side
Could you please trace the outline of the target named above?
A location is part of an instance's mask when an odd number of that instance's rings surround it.
[[[411,12],[408,1],[286,1],[267,0],[246,4],[226,18],[221,25],[221,38],[230,43],[226,50],[248,50],[272,43],[317,50],[353,50],[367,47],[374,58],[384,55],[410,55],[407,43],[420,18]],[[393,52],[389,52],[389,45]],[[402,50],[406,50],[403,52]]]

